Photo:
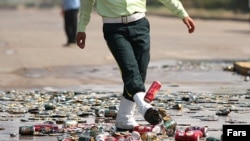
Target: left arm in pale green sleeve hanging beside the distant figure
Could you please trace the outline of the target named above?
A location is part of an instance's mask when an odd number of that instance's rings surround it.
[[[95,0],[81,0],[80,1],[80,16],[79,22],[77,25],[77,35],[76,35],[76,42],[79,48],[83,49],[85,47],[85,40],[86,40],[86,26],[88,25],[91,12]]]

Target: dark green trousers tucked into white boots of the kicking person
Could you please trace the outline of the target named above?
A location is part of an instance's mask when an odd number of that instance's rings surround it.
[[[128,24],[103,24],[103,34],[121,71],[123,96],[131,101],[145,92],[150,60],[150,25],[146,18]]]

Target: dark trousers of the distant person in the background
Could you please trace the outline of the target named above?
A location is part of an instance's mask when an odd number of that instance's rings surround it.
[[[76,43],[76,30],[78,9],[64,11],[64,30],[67,36],[67,44]]]

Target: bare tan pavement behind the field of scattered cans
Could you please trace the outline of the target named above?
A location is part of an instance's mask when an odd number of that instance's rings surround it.
[[[0,90],[121,90],[119,72],[95,13],[84,50],[62,47],[66,38],[59,9],[2,10],[0,19]],[[234,61],[249,61],[248,22],[195,19],[197,29],[190,35],[178,18],[148,19],[152,61],[147,86],[159,80],[162,89],[171,92],[242,94],[250,89],[245,77],[223,71]]]

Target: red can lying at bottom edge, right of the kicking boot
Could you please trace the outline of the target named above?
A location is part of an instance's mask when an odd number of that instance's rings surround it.
[[[202,132],[200,130],[193,131],[176,131],[175,141],[199,141],[202,137]]]

